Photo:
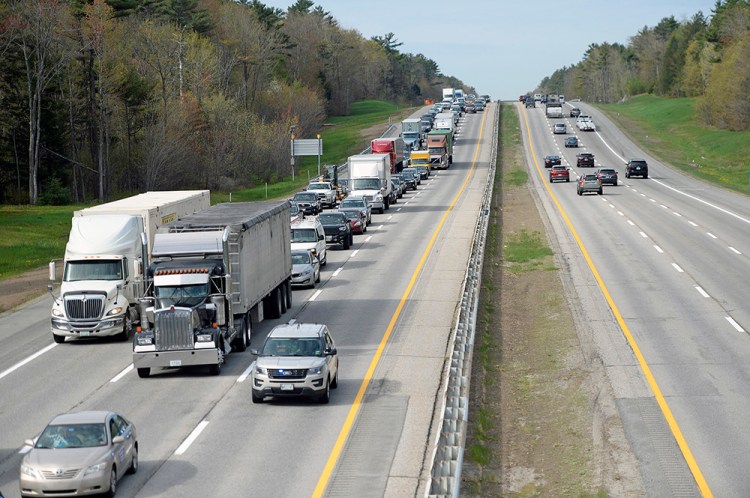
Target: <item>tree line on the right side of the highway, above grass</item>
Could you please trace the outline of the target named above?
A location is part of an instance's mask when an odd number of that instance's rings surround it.
[[[710,17],[665,17],[627,45],[593,43],[579,63],[544,78],[539,90],[589,102],[642,93],[697,97],[705,124],[748,130],[750,0],[717,0]]]

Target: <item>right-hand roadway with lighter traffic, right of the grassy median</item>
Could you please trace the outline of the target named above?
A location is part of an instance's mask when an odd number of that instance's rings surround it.
[[[673,170],[639,150],[595,108],[596,132],[516,104],[532,189],[547,216],[649,496],[750,496],[750,199]],[[551,125],[566,122],[567,135]],[[576,134],[582,147],[564,148]],[[575,154],[593,152],[619,185],[576,195]],[[570,183],[549,184],[543,157],[563,156]],[[649,178],[626,179],[645,158]]]

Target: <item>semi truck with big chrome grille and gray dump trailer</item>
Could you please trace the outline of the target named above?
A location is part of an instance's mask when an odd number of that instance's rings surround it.
[[[250,344],[253,324],[292,305],[288,201],[216,204],[156,234],[151,282],[133,337],[138,376],[207,365]]]

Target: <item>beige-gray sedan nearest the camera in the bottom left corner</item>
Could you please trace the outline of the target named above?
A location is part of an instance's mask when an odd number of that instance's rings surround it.
[[[114,496],[120,478],[138,470],[135,425],[114,412],[58,415],[25,443],[21,496]]]

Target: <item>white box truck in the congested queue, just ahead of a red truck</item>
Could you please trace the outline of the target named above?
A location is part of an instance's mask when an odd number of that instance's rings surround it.
[[[390,209],[391,158],[388,154],[360,154],[349,156],[349,195],[367,199],[372,209],[381,214]]]

